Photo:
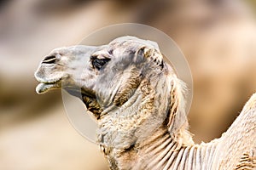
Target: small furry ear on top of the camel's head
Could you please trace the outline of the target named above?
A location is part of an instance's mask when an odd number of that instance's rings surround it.
[[[163,67],[163,55],[158,48],[143,46],[137,51],[137,55],[153,61],[156,65]]]

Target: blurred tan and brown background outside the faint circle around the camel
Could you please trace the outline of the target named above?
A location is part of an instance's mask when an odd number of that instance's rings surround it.
[[[136,22],[172,37],[194,79],[195,142],[220,137],[256,92],[254,0],[5,0],[0,3],[0,169],[105,170],[96,144],[68,122],[61,92],[35,93],[53,48],[102,26]]]

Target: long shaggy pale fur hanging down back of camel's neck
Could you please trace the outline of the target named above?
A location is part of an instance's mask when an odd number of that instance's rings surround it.
[[[173,139],[179,139],[181,144],[191,144],[191,134],[188,131],[189,123],[185,111],[186,85],[177,78],[176,74],[169,77],[171,81],[170,105],[167,115],[167,128]]]

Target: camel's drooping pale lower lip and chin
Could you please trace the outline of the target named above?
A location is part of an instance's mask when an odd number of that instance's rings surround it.
[[[52,89],[61,88],[61,79],[54,82],[40,82],[36,88],[37,94],[44,94]]]

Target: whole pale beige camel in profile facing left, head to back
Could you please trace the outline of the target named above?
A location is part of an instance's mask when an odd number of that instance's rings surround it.
[[[194,144],[185,85],[155,42],[119,37],[98,47],[56,48],[35,77],[38,94],[64,88],[81,96],[111,169],[232,169],[245,155],[247,167],[256,166],[255,95],[222,138]]]

